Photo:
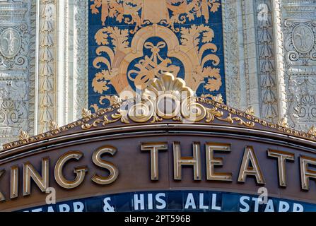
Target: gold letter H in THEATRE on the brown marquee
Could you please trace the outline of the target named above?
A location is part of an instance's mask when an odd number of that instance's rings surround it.
[[[182,165],[192,165],[194,171],[194,180],[201,180],[201,153],[200,144],[193,143],[193,157],[181,156],[180,142],[173,142],[173,177],[182,179]]]

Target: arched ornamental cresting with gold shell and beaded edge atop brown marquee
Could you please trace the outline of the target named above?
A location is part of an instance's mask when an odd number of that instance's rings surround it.
[[[165,109],[166,102],[173,102],[172,109]],[[37,143],[60,136],[80,134],[82,131],[97,131],[103,128],[113,129],[127,125],[178,124],[178,125],[214,125],[232,126],[231,128],[247,129],[247,132],[258,131],[279,133],[290,138],[304,138],[316,141],[315,127],[302,132],[289,129],[286,123],[273,124],[264,119],[254,117],[253,112],[242,112],[223,104],[217,97],[196,97],[194,91],[187,86],[182,78],[171,73],[163,73],[160,78],[148,81],[144,92],[136,98],[126,101],[119,100],[113,105],[98,112],[83,111],[83,118],[65,126],[52,126],[50,131],[37,136],[21,133],[19,141],[4,144],[4,150],[21,147],[25,144]],[[269,133],[271,135],[272,133]],[[267,134],[265,134],[267,136]],[[79,138],[78,135],[77,138]],[[288,138],[288,137],[287,137]],[[6,155],[6,154],[5,154]]]

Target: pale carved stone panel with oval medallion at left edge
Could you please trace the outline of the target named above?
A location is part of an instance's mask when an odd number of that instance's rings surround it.
[[[28,131],[30,1],[0,2],[0,143]]]

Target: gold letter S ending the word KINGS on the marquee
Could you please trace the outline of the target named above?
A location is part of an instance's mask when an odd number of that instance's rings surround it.
[[[111,184],[112,182],[115,182],[117,179],[117,176],[119,175],[119,170],[115,165],[112,164],[112,162],[107,162],[102,159],[101,155],[105,153],[109,153],[110,155],[115,155],[117,152],[115,147],[112,146],[103,146],[101,148],[98,148],[93,153],[92,160],[95,165],[98,167],[105,168],[110,171],[110,174],[107,177],[99,176],[98,174],[94,174],[91,178],[93,182],[97,184]]]

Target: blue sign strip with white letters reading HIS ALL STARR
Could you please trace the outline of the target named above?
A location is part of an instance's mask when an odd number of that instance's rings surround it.
[[[139,191],[77,199],[22,212],[315,212],[316,205],[221,191]]]

